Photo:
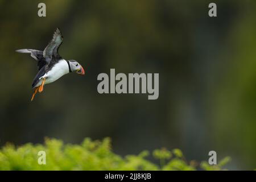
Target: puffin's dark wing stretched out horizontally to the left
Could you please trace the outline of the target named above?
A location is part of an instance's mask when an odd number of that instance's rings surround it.
[[[16,52],[19,53],[30,53],[30,56],[38,61],[38,70],[47,64],[46,59],[43,56],[43,51],[38,51],[36,49],[18,49]]]

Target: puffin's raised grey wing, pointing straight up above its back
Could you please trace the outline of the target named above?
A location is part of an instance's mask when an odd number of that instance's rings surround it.
[[[61,35],[60,29],[57,28],[53,34],[52,40],[46,46],[43,52],[43,56],[47,63],[60,59],[58,49],[63,42],[63,36]]]

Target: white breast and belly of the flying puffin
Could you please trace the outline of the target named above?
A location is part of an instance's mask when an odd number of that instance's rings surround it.
[[[40,78],[40,81],[36,86],[39,86],[42,84],[42,78],[46,78],[45,84],[49,84],[53,81],[56,81],[59,79],[61,76],[69,73],[69,68],[68,68],[68,63],[64,59],[60,60],[58,63],[53,65],[52,69],[48,71],[44,76]]]

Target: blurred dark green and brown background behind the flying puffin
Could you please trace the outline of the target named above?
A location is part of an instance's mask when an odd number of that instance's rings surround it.
[[[38,17],[38,3],[47,17]],[[229,169],[256,167],[256,2],[0,1],[0,146],[80,143],[111,137],[119,155],[180,148],[188,160],[231,156]],[[36,62],[59,27],[59,53],[75,73],[31,98]],[[159,98],[98,94],[99,73],[159,73]]]

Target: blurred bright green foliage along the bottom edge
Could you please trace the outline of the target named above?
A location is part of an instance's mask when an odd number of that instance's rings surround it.
[[[168,151],[166,148],[155,150],[152,155],[159,160],[160,166],[147,160],[148,151],[124,158],[114,154],[110,139],[92,141],[85,138],[78,144],[63,144],[61,140],[46,138],[45,143],[27,143],[20,147],[6,144],[0,150],[0,170],[196,170],[195,161],[186,162],[179,149]],[[38,164],[38,152],[46,152],[46,165]],[[221,170],[230,158],[221,160],[218,166],[202,162],[204,170]]]

